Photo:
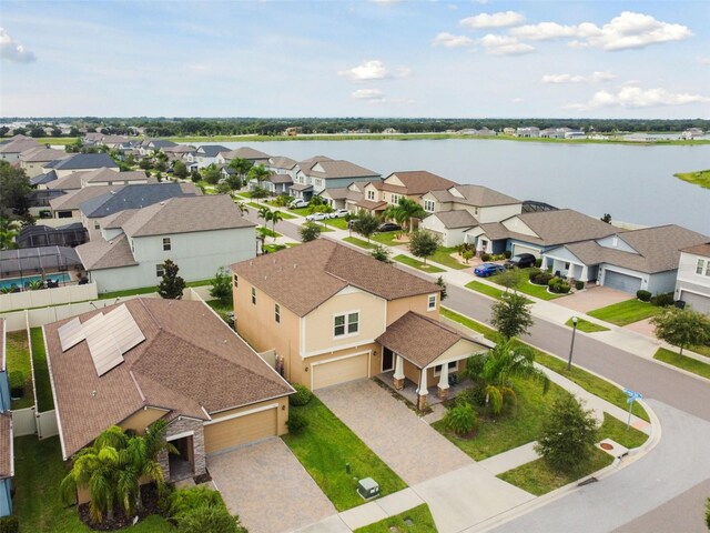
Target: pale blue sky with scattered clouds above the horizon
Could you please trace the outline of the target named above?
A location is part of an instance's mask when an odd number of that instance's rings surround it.
[[[0,115],[710,119],[710,1],[2,0]]]

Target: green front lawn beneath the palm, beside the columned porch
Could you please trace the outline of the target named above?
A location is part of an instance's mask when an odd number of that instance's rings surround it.
[[[473,439],[456,435],[446,428],[444,420],[434,422],[432,428],[476,461],[536,441],[545,415],[562,394],[562,389],[550,383],[547,394],[544,394],[540,383],[520,379],[513,380],[513,386],[517,404],[505,415],[495,419],[480,416],[478,433]]]

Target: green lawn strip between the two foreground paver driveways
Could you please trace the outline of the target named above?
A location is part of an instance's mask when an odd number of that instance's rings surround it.
[[[359,479],[377,480],[383,496],[407,486],[316,396],[307,405],[292,406],[291,412],[303,414],[308,426],[282,439],[338,511],[365,503],[356,492]],[[351,474],[345,463],[351,464]]]

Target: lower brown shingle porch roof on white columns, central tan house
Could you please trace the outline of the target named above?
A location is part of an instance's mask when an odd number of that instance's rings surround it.
[[[458,341],[471,343],[471,354],[488,346],[464,335],[442,322],[413,311],[393,322],[377,342],[423,369]]]

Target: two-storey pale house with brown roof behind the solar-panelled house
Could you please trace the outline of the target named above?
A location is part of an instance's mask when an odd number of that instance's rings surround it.
[[[100,293],[158,285],[168,259],[190,282],[256,254],[256,224],[229,195],[179,197],[126,211],[97,220],[100,235],[75,249]]]

